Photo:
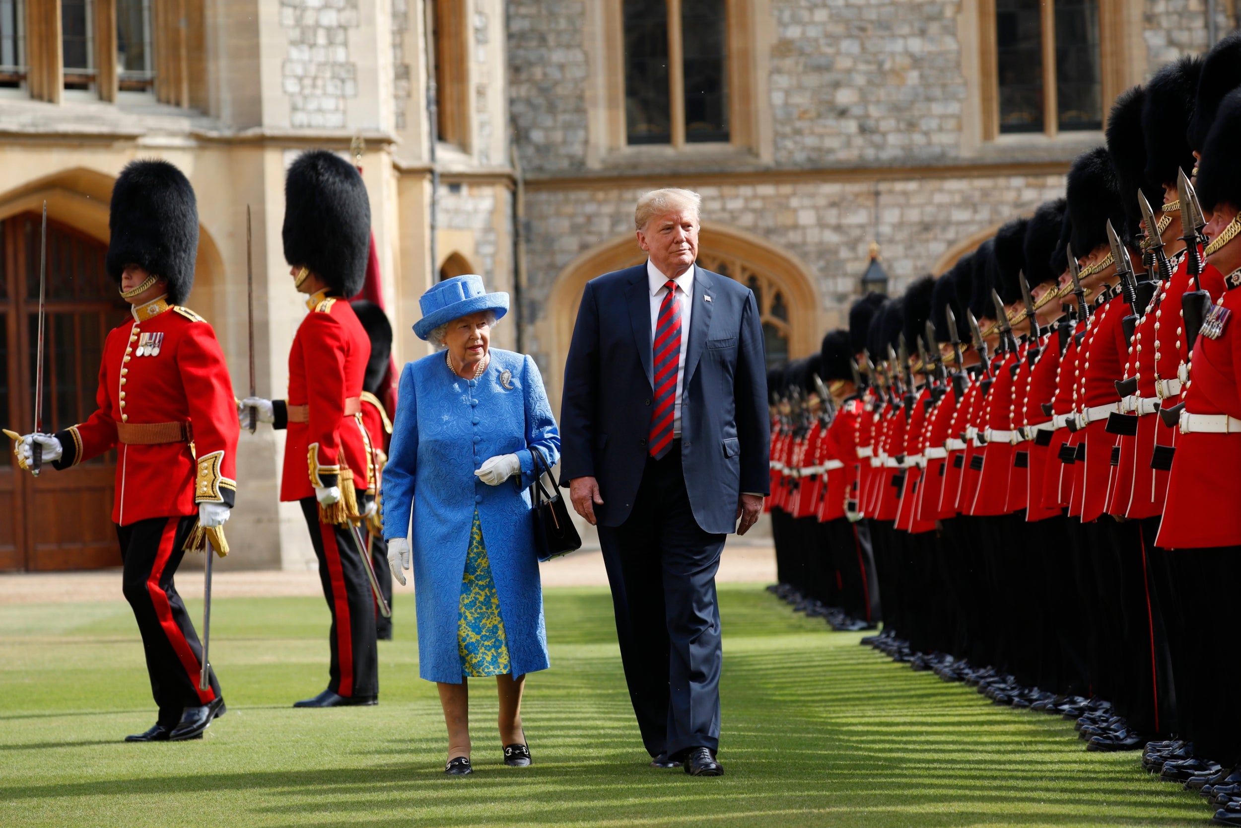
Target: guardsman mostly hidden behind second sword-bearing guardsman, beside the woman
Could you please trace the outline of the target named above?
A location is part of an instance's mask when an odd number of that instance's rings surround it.
[[[362,328],[371,340],[371,359],[366,361],[366,379],[362,381],[362,425],[371,439],[370,466],[375,472],[375,478],[370,490],[374,493],[376,508],[367,516],[365,526],[366,542],[371,547],[371,566],[375,567],[375,577],[383,600],[391,607],[392,570],[388,566],[386,544],[382,542],[383,525],[380,519],[380,503],[383,489],[383,466],[387,463],[387,446],[392,437],[392,418],[382,400],[385,391],[390,389],[392,323],[388,322],[383,308],[374,302],[359,299],[350,304],[354,305],[357,322],[362,323]],[[392,641],[392,618],[380,613],[379,601],[375,602],[375,613],[376,637],[380,641]]]

